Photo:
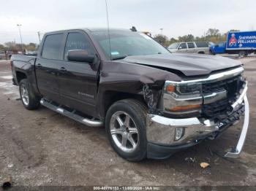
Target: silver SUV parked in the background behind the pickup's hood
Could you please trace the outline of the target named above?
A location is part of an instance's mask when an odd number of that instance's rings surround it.
[[[212,42],[175,42],[167,47],[170,52],[208,54]]]

